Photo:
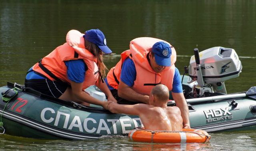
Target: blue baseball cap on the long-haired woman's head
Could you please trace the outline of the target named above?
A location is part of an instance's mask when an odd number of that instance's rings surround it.
[[[91,29],[84,33],[84,39],[96,44],[102,52],[110,54],[112,51],[107,46],[106,38],[102,31],[99,29]]]

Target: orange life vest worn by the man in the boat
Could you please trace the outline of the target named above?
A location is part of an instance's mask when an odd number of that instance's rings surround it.
[[[164,84],[169,90],[172,90],[172,82],[175,72],[174,63],[176,62],[176,51],[173,46],[168,42],[171,50],[171,66],[166,67],[162,72],[156,73],[151,68],[150,63],[147,60],[147,54],[152,50],[152,46],[156,42],[164,40],[156,38],[136,38],[130,42],[130,50],[126,50],[121,54],[121,60],[116,64],[115,67],[111,68],[107,75],[108,84],[115,89],[118,89],[120,81],[122,63],[127,57],[130,57],[136,68],[136,79],[132,89],[137,93],[143,95],[149,95],[151,89],[157,84]]]

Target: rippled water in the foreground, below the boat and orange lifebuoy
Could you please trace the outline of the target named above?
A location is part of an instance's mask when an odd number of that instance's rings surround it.
[[[256,131],[241,133],[212,133],[209,143],[135,143],[125,136],[102,137],[97,140],[65,141],[24,139],[3,135],[0,137],[0,149],[6,150],[222,150],[222,151],[255,151]]]

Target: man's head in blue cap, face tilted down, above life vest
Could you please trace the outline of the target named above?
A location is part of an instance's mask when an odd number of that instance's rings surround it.
[[[156,73],[162,72],[166,66],[171,66],[172,50],[166,42],[156,42],[149,54],[150,65]]]

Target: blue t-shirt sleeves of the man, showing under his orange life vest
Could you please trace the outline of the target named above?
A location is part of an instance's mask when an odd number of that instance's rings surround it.
[[[135,79],[136,79],[136,68],[135,68],[134,62],[130,58],[127,58],[123,62],[120,80],[124,82],[126,85],[128,85],[129,87],[132,87],[132,85],[134,85]],[[107,78],[105,79],[105,81],[109,89],[114,89],[113,87],[108,85]],[[173,77],[172,92],[183,93],[180,72],[177,68],[175,68],[175,73]]]

